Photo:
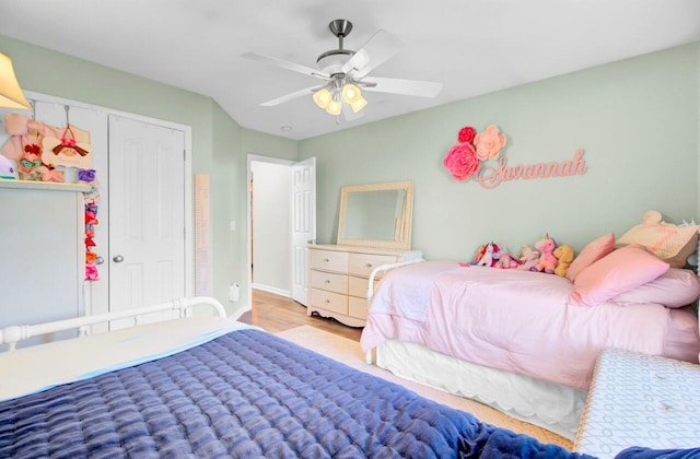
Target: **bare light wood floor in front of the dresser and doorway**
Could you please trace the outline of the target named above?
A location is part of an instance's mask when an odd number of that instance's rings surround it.
[[[244,323],[258,326],[270,333],[311,326],[350,340],[360,341],[361,328],[347,327],[335,319],[307,316],[306,307],[291,298],[253,290],[252,310],[238,318]]]

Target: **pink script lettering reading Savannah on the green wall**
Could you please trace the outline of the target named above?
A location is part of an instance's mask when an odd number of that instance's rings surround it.
[[[534,178],[565,177],[570,175],[583,175],[588,167],[583,158],[583,149],[576,150],[573,160],[549,163],[527,164],[517,166],[509,166],[508,158],[502,157],[498,166],[485,166],[479,170],[476,180],[483,188],[495,188],[503,181],[530,180]]]

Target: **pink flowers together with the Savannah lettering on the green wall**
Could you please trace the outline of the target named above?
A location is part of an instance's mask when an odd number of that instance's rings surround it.
[[[491,125],[485,131],[478,132],[471,126],[459,130],[459,143],[454,145],[443,160],[443,165],[450,174],[459,181],[476,176],[476,180],[483,188],[495,188],[503,181],[522,178],[565,177],[583,175],[587,170],[583,160],[583,149],[576,150],[572,161],[548,162],[538,164],[508,166],[508,158],[502,157],[498,166],[490,166],[487,161],[495,161],[505,146],[506,137],[499,128]]]

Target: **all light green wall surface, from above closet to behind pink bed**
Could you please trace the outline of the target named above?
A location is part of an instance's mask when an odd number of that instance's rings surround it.
[[[317,157],[322,243],[336,237],[340,186],[413,180],[413,247],[433,259],[469,259],[490,239],[516,251],[545,232],[580,249],[650,209],[700,220],[698,44],[299,142],[244,129],[207,96],[2,36],[0,52],[25,90],[191,126],[192,172],[211,176],[212,291],[230,313],[249,305],[248,154]],[[493,190],[455,181],[442,158],[457,131],[491,123],[509,137],[510,165],[570,160],[582,148],[587,174]],[[236,304],[231,282],[243,287]]]

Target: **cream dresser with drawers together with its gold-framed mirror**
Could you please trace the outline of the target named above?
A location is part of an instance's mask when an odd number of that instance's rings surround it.
[[[422,257],[410,249],[412,211],[411,181],[342,187],[338,244],[308,246],[307,314],[363,327],[374,269]]]

